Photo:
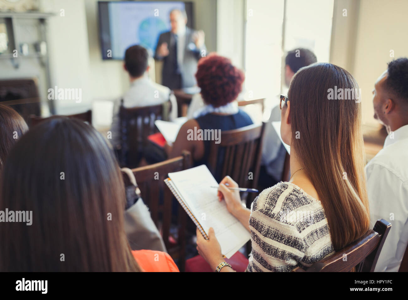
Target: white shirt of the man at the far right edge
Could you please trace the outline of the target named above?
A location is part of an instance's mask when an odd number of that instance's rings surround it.
[[[375,271],[397,272],[408,243],[408,125],[388,134],[366,173],[372,228],[391,223]]]

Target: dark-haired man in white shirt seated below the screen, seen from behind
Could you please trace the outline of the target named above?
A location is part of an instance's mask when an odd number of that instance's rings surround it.
[[[139,45],[131,46],[126,49],[124,59],[124,69],[129,73],[130,88],[122,98],[115,100],[113,104],[113,119],[112,119],[112,144],[117,146],[120,144],[120,120],[119,108],[121,99],[123,106],[145,107],[171,101],[171,112],[169,118],[177,118],[177,101],[168,87],[164,87],[149,79],[147,72],[149,71],[149,53]]]

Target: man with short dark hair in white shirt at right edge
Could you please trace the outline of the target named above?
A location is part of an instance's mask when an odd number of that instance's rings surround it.
[[[391,223],[375,271],[397,272],[408,243],[408,59],[399,58],[377,79],[374,118],[388,136],[384,148],[366,166],[372,225]]]

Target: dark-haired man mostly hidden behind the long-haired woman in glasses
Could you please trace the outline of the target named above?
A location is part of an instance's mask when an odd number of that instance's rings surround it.
[[[308,49],[294,49],[289,51],[285,58],[285,84],[289,86],[295,73],[302,67],[317,62],[315,53]],[[272,126],[273,121],[281,120],[279,97],[276,106],[271,111],[271,116],[265,124],[264,143],[262,144],[262,162],[259,172],[259,186],[272,187],[282,179],[286,149]]]

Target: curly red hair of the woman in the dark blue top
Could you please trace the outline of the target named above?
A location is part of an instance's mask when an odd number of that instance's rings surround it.
[[[237,98],[245,75],[230,59],[210,53],[198,61],[195,78],[204,102],[220,107]]]

